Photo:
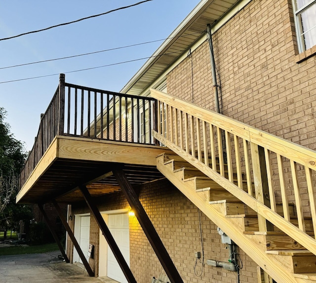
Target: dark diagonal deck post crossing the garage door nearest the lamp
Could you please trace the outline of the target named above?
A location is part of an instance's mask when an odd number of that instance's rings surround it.
[[[99,212],[96,204],[92,200],[92,197],[91,197],[88,189],[86,188],[85,185],[79,186],[79,189],[84,197],[85,202],[87,203],[87,205],[90,209],[90,212],[92,213],[95,220],[97,221],[99,228],[102,231],[102,234],[104,235],[105,239],[107,240],[107,242],[109,244],[109,247],[111,248],[115,258],[117,259],[118,264],[119,264],[126,280],[129,283],[137,283],[137,281],[134,278],[129,266],[127,265],[122,253],[120,252],[118,245],[115,242],[107,224],[104,222],[104,219],[103,219],[101,213]]]

